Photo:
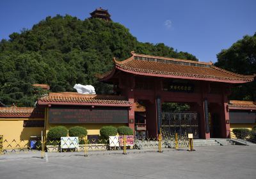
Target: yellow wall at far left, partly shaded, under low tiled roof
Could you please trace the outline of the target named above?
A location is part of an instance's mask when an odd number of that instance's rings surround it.
[[[23,127],[24,120],[44,118],[0,118],[0,135],[3,135],[4,148],[27,148],[30,136],[41,136],[43,127]]]

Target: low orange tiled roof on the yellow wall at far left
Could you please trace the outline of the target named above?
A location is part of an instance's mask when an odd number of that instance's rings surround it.
[[[0,107],[0,117],[42,117],[44,111],[34,107]]]

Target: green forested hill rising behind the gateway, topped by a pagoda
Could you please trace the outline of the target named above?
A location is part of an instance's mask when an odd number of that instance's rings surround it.
[[[32,29],[1,40],[0,101],[33,106],[45,91],[31,84],[49,84],[51,91],[74,91],[76,83],[92,84],[97,93],[109,93],[110,86],[97,82],[95,74],[110,70],[113,57],[129,58],[131,51],[197,60],[163,43],[138,42],[129,29],[115,22],[47,17]]]

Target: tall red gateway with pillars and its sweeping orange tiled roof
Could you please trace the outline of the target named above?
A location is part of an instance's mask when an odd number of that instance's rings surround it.
[[[101,75],[100,81],[114,84],[116,93],[127,97],[129,102],[143,101],[148,137],[156,137],[159,132],[163,102],[186,102],[195,109],[200,138],[228,137],[230,88],[232,84],[255,79],[255,75],[234,74],[212,63],[134,52],[131,58],[124,61],[114,58],[114,62],[113,70]],[[129,127],[134,129],[134,105],[129,110]]]

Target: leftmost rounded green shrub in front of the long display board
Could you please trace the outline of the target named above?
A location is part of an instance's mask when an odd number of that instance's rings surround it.
[[[60,141],[61,137],[67,137],[68,130],[64,126],[56,126],[50,128],[49,132],[47,133],[47,139],[51,141]]]

